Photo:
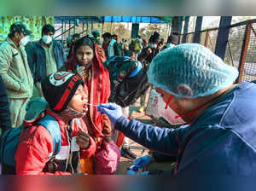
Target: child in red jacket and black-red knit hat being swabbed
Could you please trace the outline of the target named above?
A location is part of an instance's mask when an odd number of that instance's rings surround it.
[[[85,89],[85,90],[84,90]],[[20,136],[15,155],[18,175],[69,175],[79,173],[79,159],[90,158],[96,143],[81,119],[87,113],[88,93],[84,81],[71,72],[55,72],[42,81],[49,107],[61,130],[61,150],[53,158],[53,138],[44,126],[34,123]]]

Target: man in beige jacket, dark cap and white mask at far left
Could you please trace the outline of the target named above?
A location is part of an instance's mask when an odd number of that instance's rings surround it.
[[[19,127],[32,97],[33,78],[24,46],[32,32],[21,22],[10,26],[8,38],[0,45],[0,75],[7,88],[12,127]]]

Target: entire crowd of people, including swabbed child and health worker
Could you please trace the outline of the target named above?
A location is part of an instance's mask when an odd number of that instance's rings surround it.
[[[22,128],[15,171],[2,159],[3,172],[111,175],[122,155],[135,159],[137,169],[176,161],[170,171],[149,169],[148,174],[256,173],[256,85],[235,84],[237,69],[211,50],[197,43],[178,44],[175,32],[166,43],[158,32],[148,42],[137,36],[128,43],[109,32],[102,34],[101,42],[95,30],[84,37],[74,34],[68,44],[54,40],[54,26],[45,25],[42,38],[28,43],[31,33],[15,22],[0,45],[2,135]],[[108,101],[111,76],[103,63],[113,56],[128,56],[145,68],[148,84],[158,92],[161,115],[170,124],[183,124],[180,128],[130,120],[129,107]],[[41,105],[47,106],[26,120],[28,111],[33,112],[27,106],[34,87]],[[139,111],[144,107],[145,94]],[[125,135],[121,148],[113,141],[114,130]],[[150,153],[137,158],[127,137]]]

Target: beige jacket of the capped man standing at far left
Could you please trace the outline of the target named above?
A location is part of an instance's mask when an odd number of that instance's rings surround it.
[[[0,75],[9,98],[32,96],[33,78],[27,63],[25,48],[18,48],[10,39],[0,45]]]

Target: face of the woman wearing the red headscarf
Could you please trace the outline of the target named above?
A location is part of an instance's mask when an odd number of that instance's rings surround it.
[[[76,54],[77,61],[79,61],[79,64],[83,65],[84,67],[92,64],[93,56],[93,49],[91,49],[88,45],[80,46]]]

